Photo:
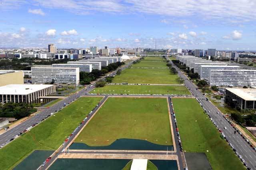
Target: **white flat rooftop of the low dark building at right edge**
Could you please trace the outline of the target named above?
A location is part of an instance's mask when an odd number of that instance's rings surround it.
[[[256,100],[256,89],[226,88],[226,90],[234,93],[235,95],[246,101]]]

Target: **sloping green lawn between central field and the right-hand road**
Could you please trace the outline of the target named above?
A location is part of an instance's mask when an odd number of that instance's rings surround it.
[[[186,152],[204,152],[213,170],[242,170],[242,163],[195,99],[172,99]],[[208,152],[207,152],[208,150]]]

